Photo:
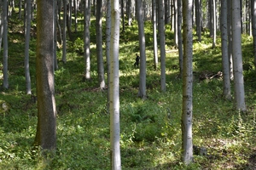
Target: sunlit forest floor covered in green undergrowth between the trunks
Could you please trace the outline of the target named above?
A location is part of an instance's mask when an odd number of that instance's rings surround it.
[[[67,42],[67,64],[55,71],[57,150],[44,160],[33,147],[37,127],[35,80],[36,39],[30,45],[32,96],[26,94],[22,20],[9,19],[9,89],[1,88],[0,169],[109,169],[109,114],[107,90],[99,90],[96,71],[95,20],[91,20],[91,80],[84,82],[83,26]],[[82,24],[83,22],[79,22]],[[104,25],[104,24],[103,24]],[[154,70],[153,36],[145,23],[147,99],[137,97],[139,53],[137,24],[125,26],[119,45],[121,161],[123,169],[256,169],[256,71],[253,38],[242,35],[247,112],[234,109],[234,99],[222,97],[220,37],[216,48],[203,32],[194,34],[193,143],[194,162],[181,161],[182,80],[173,31],[166,26],[166,93],[160,92],[160,66]],[[35,24],[32,25],[32,31]],[[104,46],[103,46],[104,48]],[[2,54],[2,53],[1,53]],[[0,63],[0,78],[3,65]],[[105,70],[106,71],[106,70]],[[1,81],[3,82],[3,81]],[[232,82],[232,94],[233,82]]]

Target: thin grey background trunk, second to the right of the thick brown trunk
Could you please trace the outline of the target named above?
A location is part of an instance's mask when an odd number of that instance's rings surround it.
[[[63,0],[62,62],[67,63],[67,0]]]

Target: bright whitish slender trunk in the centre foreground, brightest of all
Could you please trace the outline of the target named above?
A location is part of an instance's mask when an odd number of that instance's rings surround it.
[[[119,125],[119,1],[111,1],[111,40],[109,74],[110,145],[112,169],[121,169]]]

